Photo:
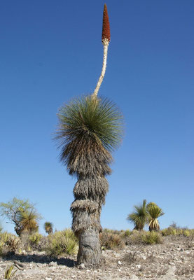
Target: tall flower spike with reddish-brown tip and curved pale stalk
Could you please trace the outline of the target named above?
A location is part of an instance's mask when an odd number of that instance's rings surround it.
[[[94,93],[92,94],[92,97],[97,97],[97,93],[99,92],[99,87],[102,84],[102,80],[104,79],[110,40],[111,40],[111,33],[110,33],[110,25],[109,25],[109,15],[108,15],[106,4],[104,4],[103,23],[102,23],[102,43],[104,45],[104,55],[103,55],[102,72],[101,75],[99,76],[99,80],[97,81],[97,86],[95,88]]]

